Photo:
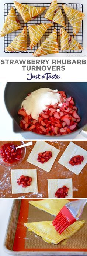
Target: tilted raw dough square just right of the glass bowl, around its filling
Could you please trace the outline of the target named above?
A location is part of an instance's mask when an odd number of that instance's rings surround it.
[[[48,160],[48,162],[42,164],[37,160],[38,153],[45,152],[45,151],[51,151],[52,157]],[[36,141],[34,148],[32,149],[31,153],[28,156],[27,162],[40,167],[46,172],[50,172],[58,153],[59,153],[59,149],[49,145],[45,141]]]

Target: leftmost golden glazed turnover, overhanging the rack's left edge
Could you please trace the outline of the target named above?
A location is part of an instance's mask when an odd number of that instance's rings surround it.
[[[15,10],[13,7],[11,7],[6,21],[4,23],[4,26],[1,30],[0,37],[6,36],[7,34],[16,31],[21,28],[21,24],[17,18],[17,15],[15,13]]]

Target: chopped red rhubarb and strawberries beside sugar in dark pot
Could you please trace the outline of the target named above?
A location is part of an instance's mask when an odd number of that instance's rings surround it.
[[[76,131],[81,118],[77,114],[78,109],[74,100],[71,96],[66,98],[64,91],[58,93],[61,94],[62,107],[59,107],[58,104],[47,106],[39,114],[38,120],[33,119],[31,115],[27,115],[23,108],[20,109],[18,114],[21,115],[21,129],[49,136],[65,135]]]

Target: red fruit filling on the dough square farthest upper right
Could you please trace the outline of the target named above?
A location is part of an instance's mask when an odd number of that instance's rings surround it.
[[[69,161],[69,164],[70,165],[81,165],[81,162],[83,162],[84,160],[84,157],[83,156],[80,156],[80,155],[76,155],[76,156],[73,156],[70,161]]]

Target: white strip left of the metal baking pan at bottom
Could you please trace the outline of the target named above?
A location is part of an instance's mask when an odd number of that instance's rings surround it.
[[[11,198],[0,198],[0,256],[8,255],[3,249],[3,243],[12,203]]]

